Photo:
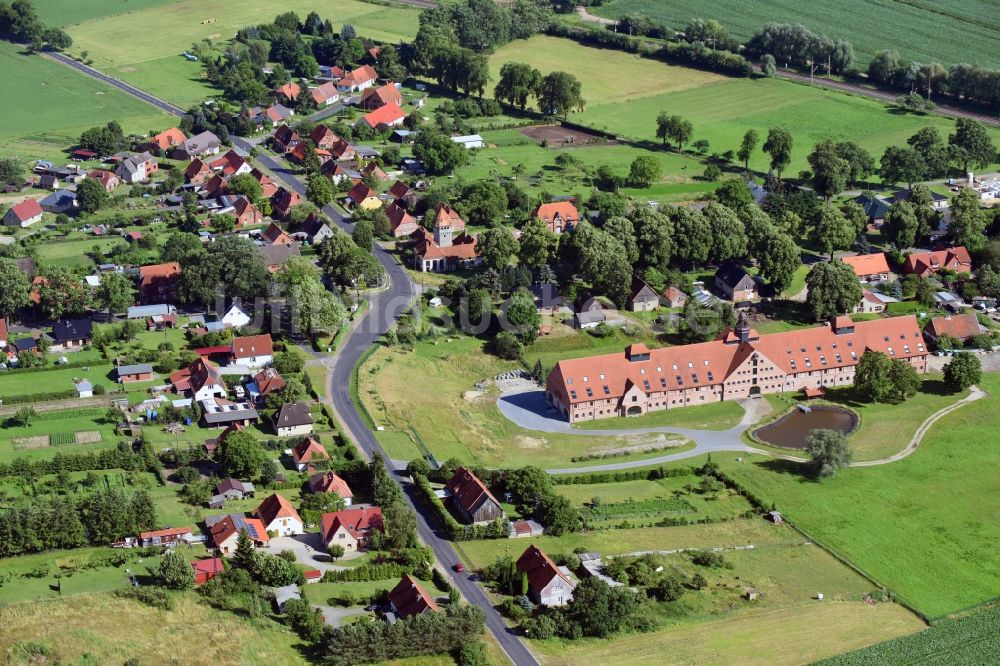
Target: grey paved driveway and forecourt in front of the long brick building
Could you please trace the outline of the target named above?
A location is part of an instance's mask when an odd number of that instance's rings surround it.
[[[661,426],[656,428],[624,428],[608,430],[577,430],[553,409],[545,400],[545,392],[540,390],[507,393],[497,401],[500,412],[515,424],[525,430],[558,433],[562,435],[606,436],[642,435],[657,432],[669,432],[684,435],[695,443],[695,448],[681,453],[671,453],[655,458],[644,458],[630,462],[591,465],[589,467],[571,467],[565,469],[549,469],[549,474],[579,474],[583,472],[605,472],[632,467],[646,467],[660,463],[694,458],[712,451],[750,451],[750,447],[740,439],[740,433],[751,424],[759,421],[771,407],[766,400],[741,400],[740,406],[745,414],[740,422],[728,430],[697,430],[694,428],[674,428]],[[614,423],[609,419],[609,425]]]

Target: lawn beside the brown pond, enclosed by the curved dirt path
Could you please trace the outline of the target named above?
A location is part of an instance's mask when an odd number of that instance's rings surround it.
[[[898,405],[860,402],[852,387],[828,388],[824,402],[847,407],[861,417],[860,427],[850,437],[851,450],[855,460],[877,460],[898,453],[928,416],[965,395],[947,393],[940,376],[930,375],[924,379],[920,393]],[[766,399],[778,415],[801,402],[799,397],[769,395]]]

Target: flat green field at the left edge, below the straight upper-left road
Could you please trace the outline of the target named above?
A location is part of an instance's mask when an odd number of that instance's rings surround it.
[[[40,55],[0,42],[0,71],[17,94],[0,99],[0,154],[21,160],[65,160],[80,133],[111,120],[126,132],[161,131],[166,114],[111,86]]]

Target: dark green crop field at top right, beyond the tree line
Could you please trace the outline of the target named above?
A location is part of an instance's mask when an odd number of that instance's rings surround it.
[[[881,49],[903,58],[1000,66],[1000,15],[991,0],[605,0],[590,12],[608,18],[641,14],[683,30],[693,18],[716,19],[746,41],[769,21],[801,23],[854,44],[862,67]]]

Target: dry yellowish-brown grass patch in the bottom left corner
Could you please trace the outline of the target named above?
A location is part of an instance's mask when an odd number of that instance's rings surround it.
[[[169,611],[108,594],[7,606],[0,609],[0,652],[34,642],[49,649],[50,663],[153,663],[162,655],[186,664],[302,663],[302,645],[283,625],[213,610],[194,592],[175,601]]]

